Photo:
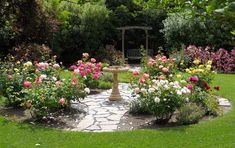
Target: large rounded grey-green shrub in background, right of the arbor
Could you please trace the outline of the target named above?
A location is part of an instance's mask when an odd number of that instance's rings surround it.
[[[194,44],[218,48],[233,40],[230,29],[210,17],[194,17],[187,12],[174,13],[170,14],[163,24],[162,32],[170,47]]]

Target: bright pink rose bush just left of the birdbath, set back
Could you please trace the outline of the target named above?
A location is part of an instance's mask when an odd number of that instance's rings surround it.
[[[96,63],[95,58],[89,58],[88,53],[83,53],[83,59],[77,62],[77,65],[70,66],[73,75],[78,75],[83,79],[85,85],[89,88],[96,88],[99,85],[101,63]],[[75,78],[74,78],[75,79]]]

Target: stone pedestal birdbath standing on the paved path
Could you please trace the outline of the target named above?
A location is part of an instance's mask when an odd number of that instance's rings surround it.
[[[103,68],[103,71],[113,73],[113,87],[112,87],[112,93],[109,97],[110,101],[122,100],[122,97],[118,89],[118,73],[125,72],[128,70],[129,70],[128,67],[122,67],[122,66],[110,66]]]

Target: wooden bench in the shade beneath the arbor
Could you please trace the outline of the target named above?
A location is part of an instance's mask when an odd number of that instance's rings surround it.
[[[153,56],[153,49],[148,49],[148,55]],[[126,57],[128,60],[139,60],[142,58],[141,49],[127,49]]]

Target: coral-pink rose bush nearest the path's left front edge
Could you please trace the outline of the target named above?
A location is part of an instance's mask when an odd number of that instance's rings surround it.
[[[69,107],[71,100],[84,98],[89,89],[74,80],[60,80],[53,75],[43,74],[34,82],[25,81],[22,92],[25,94],[22,105],[37,118],[42,118],[50,112]]]

